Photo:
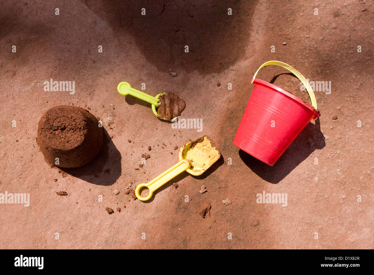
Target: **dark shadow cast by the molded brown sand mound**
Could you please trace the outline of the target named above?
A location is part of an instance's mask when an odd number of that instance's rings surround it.
[[[121,154],[108,132],[104,132],[104,143],[98,156],[89,164],[79,168],[59,168],[73,177],[98,185],[114,184],[122,173]]]

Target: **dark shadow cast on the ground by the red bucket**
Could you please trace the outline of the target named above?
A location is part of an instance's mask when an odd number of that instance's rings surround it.
[[[312,152],[325,147],[325,138],[321,132],[319,118],[315,122],[316,124],[311,122],[307,124],[274,166],[265,164],[241,149],[239,150],[239,156],[245,165],[263,180],[277,184]]]

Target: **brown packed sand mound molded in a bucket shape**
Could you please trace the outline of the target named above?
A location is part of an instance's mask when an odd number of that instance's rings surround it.
[[[48,163],[81,167],[93,161],[101,149],[103,130],[99,126],[96,117],[83,108],[55,106],[39,121],[37,143]]]

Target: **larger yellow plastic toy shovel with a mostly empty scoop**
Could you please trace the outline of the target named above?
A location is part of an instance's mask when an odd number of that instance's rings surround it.
[[[212,146],[209,138],[204,135],[194,141],[186,143],[179,149],[179,162],[163,172],[158,177],[148,183],[141,183],[135,189],[135,195],[141,201],[147,201],[153,195],[153,192],[163,186],[172,178],[183,171],[198,176],[212,166],[221,156],[221,153]],[[149,194],[146,197],[140,195],[140,189],[147,187]]]

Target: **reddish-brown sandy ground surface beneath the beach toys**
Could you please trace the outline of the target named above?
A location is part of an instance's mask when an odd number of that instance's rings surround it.
[[[0,248],[373,248],[371,1],[23,0],[1,6],[0,193],[30,193],[30,206],[0,204]],[[232,144],[250,79],[268,60],[291,64],[309,80],[331,81],[331,94],[315,92],[320,118],[273,167]],[[275,85],[307,100],[299,81],[283,73],[268,66],[258,78],[276,78]],[[75,94],[45,92],[43,82],[51,78],[75,81]],[[137,89],[145,83],[151,95],[178,94],[187,105],[182,116],[202,118],[202,131],[172,129],[150,104],[120,95],[121,81]],[[107,142],[88,166],[60,171],[43,159],[37,123],[60,104],[89,109],[104,121]],[[174,165],[175,146],[203,134],[222,155],[205,174],[184,172],[148,202],[125,194],[129,184]],[[135,170],[145,152],[150,159]],[[201,185],[208,192],[200,194]],[[264,191],[287,193],[287,206],[257,204]],[[224,205],[225,198],[232,204]],[[203,219],[198,211],[205,202],[211,216]],[[105,207],[121,211],[109,215]]]

